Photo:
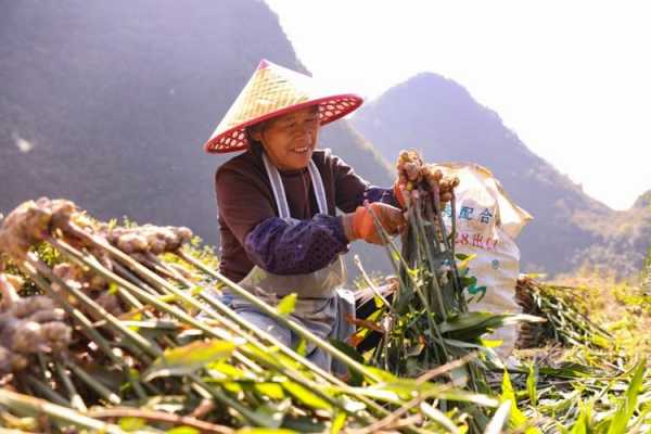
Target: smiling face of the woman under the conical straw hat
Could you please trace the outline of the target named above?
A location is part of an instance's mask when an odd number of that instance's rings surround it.
[[[271,163],[281,170],[307,167],[319,136],[319,107],[302,108],[266,122],[252,131]]]

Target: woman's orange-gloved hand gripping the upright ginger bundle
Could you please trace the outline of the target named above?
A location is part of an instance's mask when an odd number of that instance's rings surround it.
[[[384,244],[385,240],[375,220],[391,237],[401,232],[407,225],[401,209],[382,202],[373,202],[367,206],[359,206],[355,213],[342,216],[348,241],[365,240],[371,244]]]

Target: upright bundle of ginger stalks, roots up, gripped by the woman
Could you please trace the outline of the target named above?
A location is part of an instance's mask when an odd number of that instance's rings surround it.
[[[443,178],[441,171],[424,166],[414,152],[400,154],[398,170],[408,227],[401,250],[386,239],[398,289],[391,302],[378,296],[379,308],[369,317],[374,323],[360,330],[354,342],[361,341],[368,329],[381,331],[380,345],[367,357],[399,376],[427,375],[442,366],[465,360],[447,373],[447,380],[489,393],[485,374],[492,368],[501,368],[501,362],[483,345],[482,335],[513,321],[537,319],[468,311],[464,290],[471,281],[465,276],[469,258],[456,255],[454,244],[454,189],[459,180]],[[442,214],[442,202],[447,201],[452,208],[451,233]],[[460,268],[457,259],[462,261]],[[473,416],[471,431],[483,431],[485,414],[474,411]]]

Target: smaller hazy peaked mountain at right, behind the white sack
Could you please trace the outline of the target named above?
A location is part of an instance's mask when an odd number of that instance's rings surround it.
[[[523,270],[559,273],[586,261],[622,275],[639,270],[651,242],[649,206],[618,213],[591,199],[459,84],[419,74],[367,103],[352,123],[392,162],[399,150],[414,148],[431,162],[489,168],[534,216],[518,239]],[[638,202],[648,204],[650,195]]]

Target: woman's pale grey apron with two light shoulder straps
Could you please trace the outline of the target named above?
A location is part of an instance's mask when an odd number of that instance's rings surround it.
[[[285,197],[280,173],[263,153],[267,176],[271,183],[273,197],[278,206],[279,217],[290,225],[296,222],[290,216],[290,207]],[[328,202],[321,175],[312,161],[308,165],[319,213],[328,215]],[[273,275],[258,266],[244,277],[240,285],[255,294],[271,306],[288,294],[296,293],[297,301],[292,319],[323,340],[346,341],[354,332],[355,326],[348,317],[355,317],[355,296],[343,286],[346,283],[346,268],[341,255],[328,267],[307,275]],[[279,324],[273,318],[260,312],[245,299],[232,295],[230,306],[245,320],[269,332],[284,345],[295,348],[299,337],[289,329]],[[332,357],[312,343],[307,343],[306,357],[315,365],[337,374],[346,372],[345,366],[332,360]]]

